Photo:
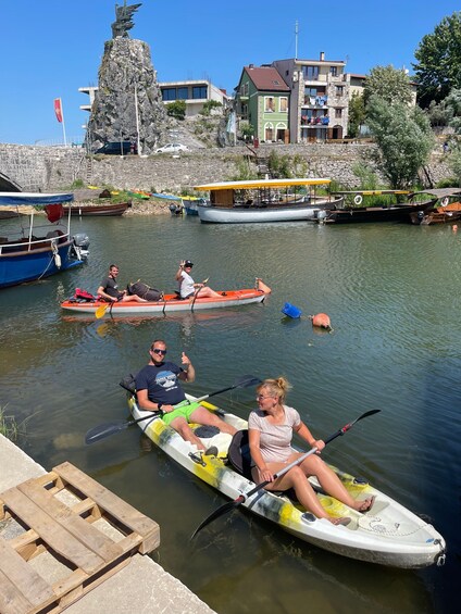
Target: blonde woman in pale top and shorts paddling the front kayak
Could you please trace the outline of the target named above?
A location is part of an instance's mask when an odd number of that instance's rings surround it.
[[[248,418],[248,435],[250,452],[254,466],[253,480],[257,484],[270,481],[267,490],[288,490],[294,488],[303,508],[319,518],[326,518],[335,525],[347,525],[349,517],[334,518],[322,508],[308,477],[315,476],[322,489],[341,501],[352,510],[361,513],[369,512],[374,503],[374,497],[364,501],[356,501],[346,490],[338,476],[316,454],[304,459],[300,465],[292,467],[279,478],[273,475],[286,465],[301,456],[291,448],[294,430],[304,439],[311,448],[319,452],[325,448],[325,442],[315,439],[309,428],[294,409],[285,405],[285,397],[290,385],[284,377],[265,379],[257,389],[258,410],[253,410]]]

